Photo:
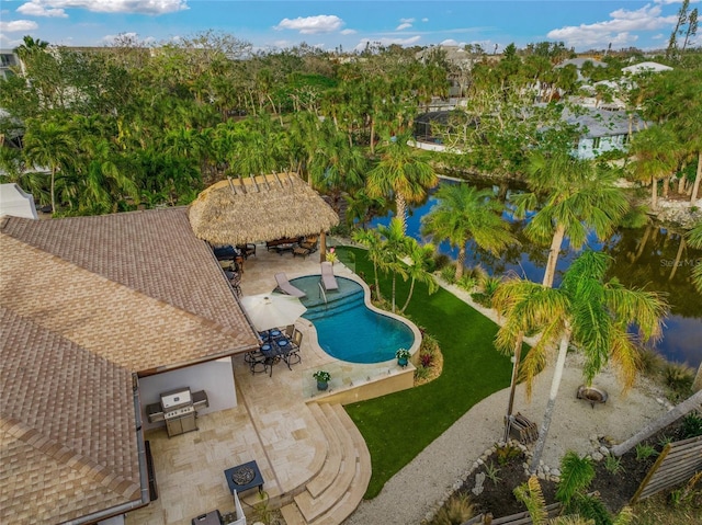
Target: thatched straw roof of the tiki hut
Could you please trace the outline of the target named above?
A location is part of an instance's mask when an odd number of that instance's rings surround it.
[[[310,236],[328,231],[339,216],[296,173],[217,182],[191,204],[195,236],[213,244]]]

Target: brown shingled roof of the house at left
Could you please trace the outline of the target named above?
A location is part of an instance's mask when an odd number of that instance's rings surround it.
[[[0,522],[140,504],[133,375],[258,340],[184,208],[0,222]]]

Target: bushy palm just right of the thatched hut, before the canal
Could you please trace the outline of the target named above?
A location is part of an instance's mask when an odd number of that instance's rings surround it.
[[[431,164],[408,145],[409,139],[409,134],[386,136],[381,160],[366,180],[369,196],[392,195],[395,198],[403,233],[407,231],[407,204],[421,202],[427,191],[439,182]]]

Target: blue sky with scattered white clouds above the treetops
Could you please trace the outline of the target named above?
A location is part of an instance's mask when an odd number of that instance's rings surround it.
[[[700,0],[691,0],[690,9]],[[576,52],[665,48],[681,0],[0,0],[0,47],[24,35],[104,46],[118,35],[156,45],[206,31],[256,49],[479,44],[486,52],[564,42]],[[694,46],[702,45],[698,35]]]

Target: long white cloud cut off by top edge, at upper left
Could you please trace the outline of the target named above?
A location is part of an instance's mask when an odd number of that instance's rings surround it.
[[[165,14],[188,8],[188,0],[30,0],[18,8],[33,16],[65,16],[65,9],[95,13]]]

